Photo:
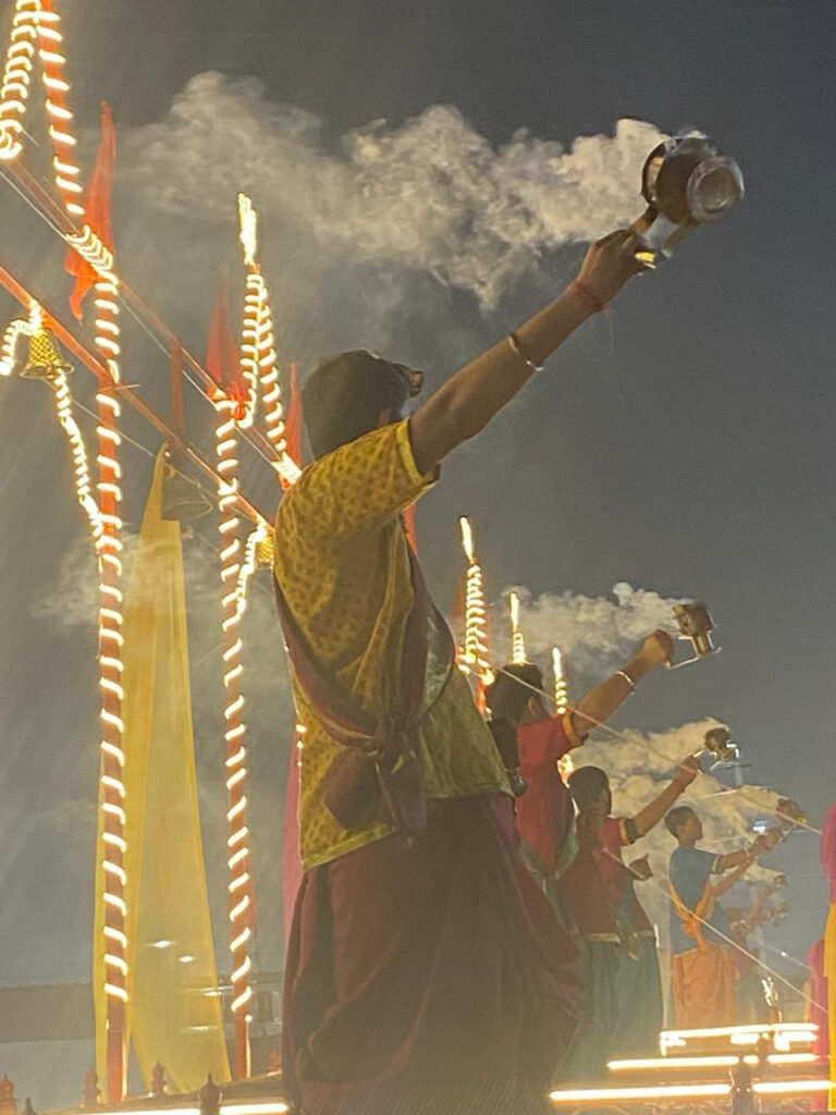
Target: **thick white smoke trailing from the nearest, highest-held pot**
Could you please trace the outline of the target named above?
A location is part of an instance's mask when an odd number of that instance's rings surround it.
[[[257,79],[210,71],[167,119],[126,137],[121,174],[149,206],[191,219],[229,222],[244,190],[332,262],[427,271],[492,307],[544,251],[633,220],[662,138],[621,119],[613,136],[568,147],[519,132],[496,149],[456,108],[434,106],[358,128],[333,153],[312,114],[271,101]]]

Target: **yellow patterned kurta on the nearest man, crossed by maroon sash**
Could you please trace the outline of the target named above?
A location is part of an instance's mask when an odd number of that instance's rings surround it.
[[[409,442],[408,419],[372,430],[307,468],[279,507],[275,575],[317,661],[373,716],[398,691],[404,632],[412,607],[400,513],[431,486]],[[340,753],[295,683],[307,727],[300,786],[305,869],[379,840],[389,825],[341,827],[323,801]],[[429,797],[509,793],[507,775],[470,688],[453,669],[420,724],[418,753]]]

